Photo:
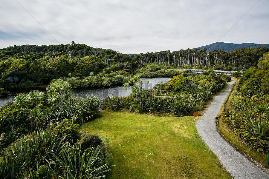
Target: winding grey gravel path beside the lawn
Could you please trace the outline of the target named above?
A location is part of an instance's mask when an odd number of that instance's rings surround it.
[[[269,179],[269,175],[237,152],[217,132],[215,116],[220,111],[233,82],[234,79],[232,78],[225,91],[213,99],[205,114],[196,122],[196,128],[204,142],[217,155],[220,162],[235,179]]]

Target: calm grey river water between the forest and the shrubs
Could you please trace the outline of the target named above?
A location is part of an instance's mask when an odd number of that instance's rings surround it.
[[[152,89],[157,83],[166,83],[171,78],[142,78],[143,88],[149,90]],[[149,84],[147,84],[149,81]],[[127,91],[126,91],[127,89]],[[131,87],[123,87],[123,86],[113,86],[110,88],[98,88],[91,90],[73,90],[73,97],[84,97],[85,95],[94,95],[98,96],[100,99],[104,99],[107,96],[128,96],[131,93]],[[0,107],[14,100],[15,95],[18,93],[12,93],[7,98],[0,98]]]

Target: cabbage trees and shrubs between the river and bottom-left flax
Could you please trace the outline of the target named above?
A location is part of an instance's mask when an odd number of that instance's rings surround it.
[[[36,127],[46,127],[54,122],[59,123],[56,129],[63,137],[68,135],[69,141],[77,141],[77,124],[97,118],[102,101],[92,95],[71,98],[71,90],[70,84],[58,79],[47,86],[47,95],[37,90],[16,95],[13,103],[0,110],[1,148]],[[88,119],[88,116],[92,117]],[[73,121],[69,121],[71,119]]]

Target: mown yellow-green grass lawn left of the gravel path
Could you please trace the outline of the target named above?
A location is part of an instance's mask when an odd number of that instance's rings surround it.
[[[83,125],[110,144],[108,178],[232,178],[198,135],[193,116],[102,111]]]

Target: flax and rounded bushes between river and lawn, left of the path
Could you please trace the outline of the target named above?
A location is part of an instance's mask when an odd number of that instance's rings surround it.
[[[152,90],[140,88],[138,81],[130,96],[107,97],[104,99],[104,107],[115,111],[127,109],[136,112],[171,112],[175,115],[187,115],[194,109],[201,110],[204,101],[224,87],[225,83],[226,81],[215,73],[213,78],[208,75],[190,78],[178,75],[167,85],[161,83]]]

